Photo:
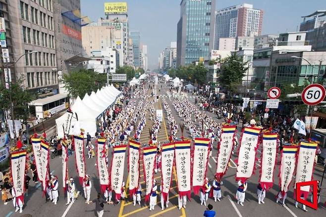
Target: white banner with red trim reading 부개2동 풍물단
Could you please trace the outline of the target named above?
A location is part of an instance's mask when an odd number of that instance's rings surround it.
[[[254,172],[259,133],[259,128],[244,128],[238,153],[236,180],[245,182]]]

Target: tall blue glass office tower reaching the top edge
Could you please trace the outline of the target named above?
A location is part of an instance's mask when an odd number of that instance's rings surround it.
[[[214,48],[216,0],[181,0],[177,24],[177,65],[208,58]]]

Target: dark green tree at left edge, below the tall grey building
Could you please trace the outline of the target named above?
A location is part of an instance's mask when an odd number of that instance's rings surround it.
[[[33,95],[23,86],[23,78],[11,83],[11,88],[0,87],[0,109],[10,109],[10,97],[13,106],[14,118],[26,120],[29,116],[27,104],[34,100]]]

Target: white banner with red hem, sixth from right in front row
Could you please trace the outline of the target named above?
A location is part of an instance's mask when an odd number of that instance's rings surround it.
[[[192,164],[192,186],[194,194],[198,194],[203,187],[208,163],[210,139],[209,138],[195,138]]]

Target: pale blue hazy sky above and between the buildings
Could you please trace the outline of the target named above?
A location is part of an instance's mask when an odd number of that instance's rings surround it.
[[[109,1],[81,0],[81,12],[96,22],[105,17],[104,2]],[[141,43],[148,47],[149,68],[157,69],[160,53],[176,41],[181,0],[124,1],[128,6],[129,30],[140,31]],[[325,9],[326,5],[325,0],[217,0],[216,5],[220,9],[241,3],[264,11],[262,34],[294,32],[300,27],[301,16]]]

